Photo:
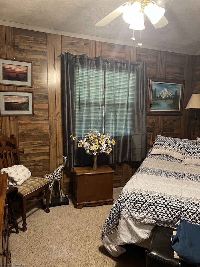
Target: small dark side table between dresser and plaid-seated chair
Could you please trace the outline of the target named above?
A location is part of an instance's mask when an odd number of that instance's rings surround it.
[[[14,209],[12,207],[12,202],[15,200],[16,196],[17,196],[17,191],[18,188],[14,187],[14,186],[9,186],[7,188],[7,198],[8,198],[8,211],[10,211],[11,213],[11,220],[10,220],[10,231],[15,228],[16,234],[19,234],[19,229],[18,229],[18,223],[17,220],[15,218],[15,213],[14,213]]]

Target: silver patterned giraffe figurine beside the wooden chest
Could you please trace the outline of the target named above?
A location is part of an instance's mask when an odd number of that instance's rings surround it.
[[[65,194],[63,193],[63,190],[62,190],[61,185],[60,185],[60,181],[62,179],[61,172],[62,172],[63,168],[65,167],[65,165],[67,163],[67,157],[66,156],[63,156],[63,159],[64,159],[64,162],[57,169],[55,169],[54,172],[52,172],[50,174],[45,174],[44,175],[44,178],[47,178],[47,179],[49,179],[51,181],[50,184],[49,184],[49,190],[50,190],[50,200],[49,200],[49,203],[50,204],[51,204],[51,195],[52,195],[52,192],[53,192],[53,185],[54,185],[54,182],[55,181],[58,182],[60,200],[62,200],[65,197]]]

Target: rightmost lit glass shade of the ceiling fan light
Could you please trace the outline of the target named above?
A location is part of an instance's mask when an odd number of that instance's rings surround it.
[[[144,8],[144,13],[152,24],[156,24],[164,16],[165,9],[157,6],[155,2],[149,1]]]

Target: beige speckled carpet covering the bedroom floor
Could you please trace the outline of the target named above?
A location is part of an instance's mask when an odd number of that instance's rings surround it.
[[[113,190],[116,200],[120,191]],[[51,207],[45,213],[39,206],[28,211],[27,231],[10,236],[11,266],[23,267],[145,267],[144,248],[128,245],[118,258],[102,245],[100,234],[112,206],[74,208]],[[22,225],[18,218],[19,229]],[[14,229],[13,229],[14,230]]]

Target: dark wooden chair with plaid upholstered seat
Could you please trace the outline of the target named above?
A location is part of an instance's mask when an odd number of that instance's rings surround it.
[[[8,168],[13,165],[21,165],[16,138],[14,135],[12,135],[11,138],[2,135],[0,136],[0,169]],[[20,209],[22,213],[22,231],[27,230],[26,227],[27,208],[32,206],[34,203],[41,200],[42,198],[46,198],[46,212],[47,213],[50,212],[49,183],[50,181],[46,178],[31,176],[21,185],[16,186],[18,188],[17,198],[19,198]],[[30,200],[30,198],[34,198],[34,201],[31,201],[28,204],[27,200]]]

